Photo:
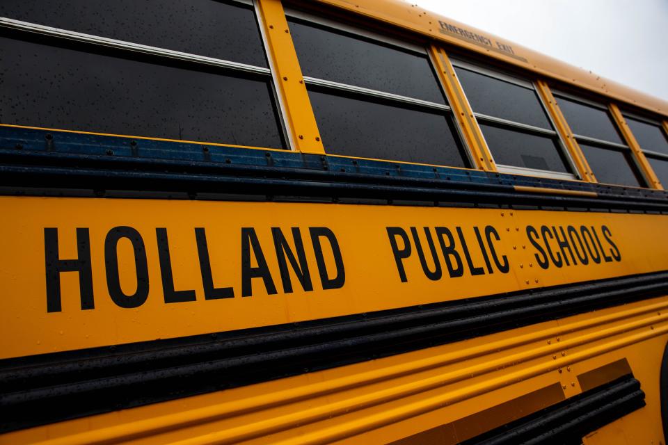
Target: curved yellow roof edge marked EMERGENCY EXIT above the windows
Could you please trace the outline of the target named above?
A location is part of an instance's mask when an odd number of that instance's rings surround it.
[[[668,102],[569,65],[520,44],[432,13],[404,0],[318,0],[389,22],[430,38],[522,67],[550,79],[584,88],[648,111],[668,115]]]

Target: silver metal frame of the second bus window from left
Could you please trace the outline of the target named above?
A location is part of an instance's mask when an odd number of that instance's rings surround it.
[[[343,32],[351,35],[353,38],[365,38],[368,40],[375,40],[376,42],[379,42],[381,44],[384,44],[386,46],[390,47],[397,47],[401,49],[402,51],[408,51],[413,54],[417,54],[419,56],[425,56],[427,60],[429,61],[429,66],[431,68],[432,74],[434,74],[434,80],[436,81],[438,85],[438,89],[440,90],[441,94],[443,97],[445,97],[447,104],[438,104],[436,102],[429,102],[424,99],[416,99],[414,97],[408,97],[404,95],[397,95],[391,92],[384,92],[381,90],[374,90],[372,88],[365,88],[365,87],[360,87],[360,86],[354,86],[350,85],[349,83],[340,83],[336,81],[328,81],[326,79],[319,79],[317,77],[312,77],[312,76],[302,76],[304,80],[305,86],[315,86],[315,87],[320,87],[320,88],[325,88],[326,90],[331,90],[333,92],[335,91],[342,91],[342,92],[352,92],[353,94],[359,94],[361,96],[365,97],[372,97],[375,99],[381,99],[383,101],[387,101],[388,103],[399,103],[399,104],[408,104],[411,106],[415,106],[417,108],[429,108],[432,110],[438,110],[442,112],[444,115],[448,116],[448,118],[452,119],[452,122],[454,124],[454,127],[456,128],[456,135],[453,134],[454,138],[459,138],[459,143],[461,143],[461,146],[463,147],[463,154],[464,156],[464,163],[468,163],[468,167],[463,167],[468,170],[476,170],[475,168],[475,158],[471,152],[470,147],[468,146],[468,143],[466,141],[466,138],[463,136],[463,130],[461,129],[461,124],[459,120],[456,118],[456,115],[454,113],[454,110],[452,109],[452,98],[450,95],[447,94],[447,90],[445,86],[443,86],[443,82],[440,80],[440,77],[438,76],[438,70],[437,70],[437,63],[436,60],[434,60],[434,55],[431,54],[431,51],[429,51],[430,44],[429,42],[425,42],[424,46],[420,44],[415,44],[411,42],[407,42],[405,40],[401,40],[399,38],[392,37],[392,35],[389,34],[381,34],[381,33],[376,33],[374,31],[369,31],[368,29],[362,29],[359,26],[351,26],[349,24],[345,24],[343,22],[337,21],[335,19],[327,19],[325,17],[321,17],[319,15],[315,15],[309,12],[306,12],[304,10],[299,10],[295,8],[291,8],[286,6],[285,7],[285,17],[287,19],[289,18],[294,18],[301,20],[303,22],[307,23],[313,23],[317,24],[319,26],[322,26],[327,29],[332,29],[333,31],[337,32]],[[327,153],[327,147],[325,146],[325,153]],[[339,154],[331,154],[331,156],[347,156],[347,155],[339,155]],[[351,157],[351,156],[347,156]],[[352,157],[363,157],[363,156],[352,156]],[[406,162],[406,161],[396,161],[392,159],[381,159],[381,161],[393,161],[393,162]],[[436,165],[436,164],[431,164],[431,163],[424,163],[424,165]],[[454,165],[445,165],[446,167],[451,167],[451,168],[462,168]]]

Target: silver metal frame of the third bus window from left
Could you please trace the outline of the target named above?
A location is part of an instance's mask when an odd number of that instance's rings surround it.
[[[497,163],[494,160],[494,154],[492,152],[492,149],[489,148],[489,144],[485,139],[484,132],[481,131],[482,137],[485,140],[485,144],[488,147],[489,155],[491,156],[492,160],[497,166],[499,172],[509,173],[511,175],[531,175],[536,177],[546,177],[550,179],[582,180],[582,177],[578,172],[578,168],[575,165],[575,162],[573,161],[571,153],[568,152],[568,149],[566,148],[566,144],[562,139],[561,133],[557,131],[557,124],[555,123],[555,120],[552,117],[552,113],[550,113],[548,107],[543,101],[543,97],[541,97],[541,95],[539,94],[539,90],[538,87],[536,86],[535,81],[530,81],[528,79],[523,79],[522,77],[505,74],[497,70],[483,67],[481,65],[478,65],[477,63],[468,62],[467,60],[463,60],[462,58],[451,57],[450,61],[454,67],[460,67],[463,68],[464,70],[469,70],[472,72],[476,72],[477,74],[482,74],[484,76],[491,77],[492,79],[497,79],[499,81],[512,83],[516,86],[527,88],[527,90],[532,90],[536,95],[536,99],[538,99],[540,106],[543,108],[543,111],[545,112],[548,121],[550,122],[550,125],[552,126],[552,130],[548,130],[542,127],[535,127],[534,125],[531,124],[523,124],[522,122],[515,122],[513,120],[496,118],[495,116],[486,115],[484,113],[477,113],[475,110],[472,110],[473,120],[475,121],[475,124],[478,127],[480,127],[478,120],[481,120],[482,122],[491,122],[492,124],[500,124],[502,127],[509,127],[509,129],[511,130],[514,128],[521,129],[523,131],[538,136],[550,136],[551,138],[555,138],[557,140],[559,148],[562,150],[562,155],[564,156],[564,159],[566,159],[567,166],[571,168],[571,172],[568,173],[568,172],[554,172],[551,170],[539,170],[536,168],[518,167],[516,165],[506,165]],[[457,79],[459,81],[459,76],[457,77]],[[466,102],[468,102],[468,97],[466,97],[466,89],[463,88],[463,86],[461,88],[464,92],[464,97],[466,99]],[[468,106],[470,107],[470,103],[468,104]]]

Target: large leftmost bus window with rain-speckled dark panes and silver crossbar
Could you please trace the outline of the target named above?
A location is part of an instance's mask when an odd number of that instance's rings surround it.
[[[38,22],[0,36],[3,124],[285,148],[250,6],[170,1],[152,6],[154,15],[140,14],[143,2],[33,3],[0,6],[12,19],[35,12]],[[79,7],[81,20],[51,11]],[[226,29],[216,17],[228,14],[237,24]]]

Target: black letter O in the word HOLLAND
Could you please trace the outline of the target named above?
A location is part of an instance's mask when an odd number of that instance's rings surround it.
[[[132,243],[134,252],[137,289],[132,295],[126,295],[120,288],[118,277],[118,241],[120,238],[127,238]],[[148,261],[141,234],[136,229],[127,226],[114,227],[109,230],[104,238],[104,264],[106,266],[106,289],[109,289],[111,300],[118,307],[125,309],[143,305],[148,298]]]

